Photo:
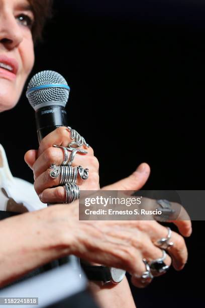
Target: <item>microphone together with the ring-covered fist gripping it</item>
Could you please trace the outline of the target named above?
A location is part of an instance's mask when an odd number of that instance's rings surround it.
[[[33,169],[34,187],[44,203],[70,203],[80,190],[99,189],[99,164],[93,149],[68,126],[69,92],[67,82],[55,71],[37,73],[28,85],[40,145],[38,151],[28,151],[25,160]]]

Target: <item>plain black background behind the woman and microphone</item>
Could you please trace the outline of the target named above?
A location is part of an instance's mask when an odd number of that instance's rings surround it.
[[[101,186],[147,162],[146,189],[204,188],[203,1],[56,1],[44,38],[31,75],[52,69],[67,80],[69,124],[94,148]],[[23,157],[37,138],[25,91],[0,120],[13,175],[32,182]],[[133,288],[139,308],[204,306],[203,225],[193,222],[182,272]]]

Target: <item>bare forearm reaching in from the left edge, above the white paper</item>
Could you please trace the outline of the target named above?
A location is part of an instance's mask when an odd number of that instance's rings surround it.
[[[70,254],[69,238],[63,245],[61,228],[49,208],[1,221],[0,234],[0,287]]]

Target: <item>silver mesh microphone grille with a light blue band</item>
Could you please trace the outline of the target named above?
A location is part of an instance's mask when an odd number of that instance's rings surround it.
[[[30,80],[26,96],[35,110],[50,105],[65,107],[69,91],[70,88],[61,74],[53,70],[43,70]]]

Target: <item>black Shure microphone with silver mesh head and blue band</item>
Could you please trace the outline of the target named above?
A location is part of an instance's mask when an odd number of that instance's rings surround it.
[[[60,126],[68,126],[65,106],[70,88],[61,74],[43,70],[30,80],[26,96],[36,112],[38,140]]]

